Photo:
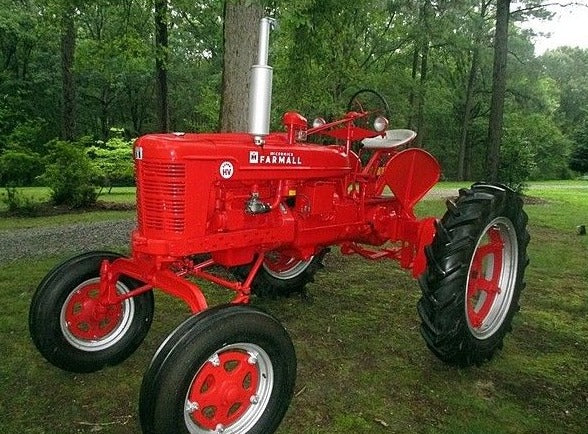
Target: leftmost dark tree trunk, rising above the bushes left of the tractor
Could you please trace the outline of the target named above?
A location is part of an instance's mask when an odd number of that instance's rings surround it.
[[[62,71],[62,117],[61,138],[74,140],[76,129],[76,85],[74,76],[74,54],[76,49],[75,7],[64,4],[61,15],[61,71]]]

